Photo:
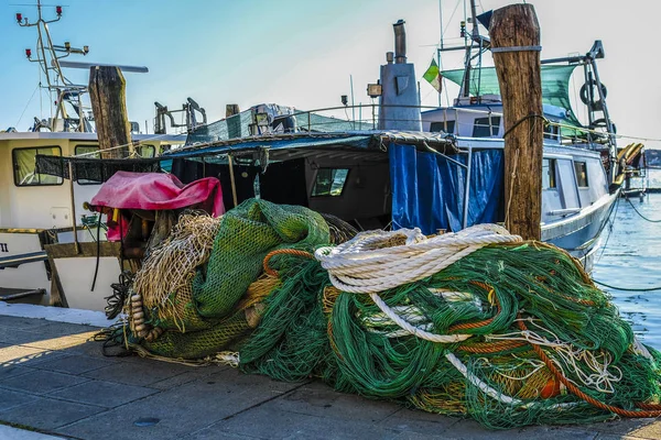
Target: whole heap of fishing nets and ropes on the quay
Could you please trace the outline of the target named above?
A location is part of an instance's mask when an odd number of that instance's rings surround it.
[[[661,415],[661,354],[564,251],[492,224],[354,234],[254,199],[182,218],[137,275],[124,342],[491,428]]]

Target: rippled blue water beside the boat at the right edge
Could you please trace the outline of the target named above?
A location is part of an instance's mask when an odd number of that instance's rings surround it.
[[[661,188],[661,169],[651,170],[650,187]],[[649,194],[642,202],[639,198],[630,200],[647,218],[661,220],[661,194]],[[661,222],[643,220],[625,199],[618,200],[616,209],[611,228],[604,230],[593,278],[625,288],[661,287]],[[661,350],[661,290],[602,288],[613,295],[636,334]]]

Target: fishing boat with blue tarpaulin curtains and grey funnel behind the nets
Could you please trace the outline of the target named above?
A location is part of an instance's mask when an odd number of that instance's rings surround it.
[[[313,111],[261,103],[192,128],[184,146],[156,157],[107,165],[97,158],[39,155],[37,164],[59,177],[80,166],[104,167],[106,177],[136,167],[160,169],[184,184],[216,177],[225,209],[257,197],[305,206],[359,230],[420,228],[437,234],[502,222],[505,133],[492,69],[468,63],[469,75],[455,74],[462,78],[462,96],[454,106],[424,108],[414,66],[407,62],[404,22],[393,30],[395,51],[387,54],[379,81],[368,85],[368,95],[379,103],[351,109],[357,120],[342,117],[350,108],[346,97],[342,107]],[[486,52],[487,43],[476,33],[464,48]],[[542,70],[543,84],[554,87],[544,89],[551,96],[545,95],[543,114],[542,239],[570,251],[588,270],[621,179],[597,72],[603,56],[596,42],[585,55],[543,62],[548,67]],[[577,66],[586,78],[588,127],[573,117],[566,94]],[[145,231],[160,230],[155,215],[148,221],[152,226]]]

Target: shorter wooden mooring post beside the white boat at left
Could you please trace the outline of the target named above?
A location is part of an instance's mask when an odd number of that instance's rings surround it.
[[[89,68],[89,100],[101,158],[123,158],[131,145],[126,80],[119,67]]]

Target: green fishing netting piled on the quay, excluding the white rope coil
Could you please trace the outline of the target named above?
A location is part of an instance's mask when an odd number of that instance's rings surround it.
[[[418,329],[469,336],[438,343],[402,329],[369,295],[335,288],[311,255],[280,253],[268,263],[278,276],[262,273],[272,251],[327,245],[327,221],[305,208],[247,200],[225,215],[208,262],[181,296],[191,298],[178,316],[185,329],[156,308],[147,311],[148,323],[163,334],[147,341],[129,331],[129,342],[174,359],[238,352],[246,373],[319,377],[340,392],[470,416],[490,428],[614,417],[595,403],[633,411],[659,404],[661,355],[635,340],[564,251],[538,242],[488,245],[378,293]]]

